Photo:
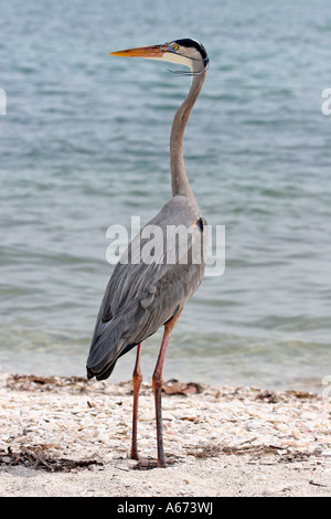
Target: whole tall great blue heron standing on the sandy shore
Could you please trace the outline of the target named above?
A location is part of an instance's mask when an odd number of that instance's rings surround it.
[[[183,160],[184,129],[193,105],[200,94],[209,67],[209,56],[201,43],[195,40],[175,40],[163,45],[128,49],[110,53],[117,56],[140,56],[180,63],[191,68],[192,76],[188,97],[178,108],[170,137],[170,167],[172,198],[147,225],[158,225],[166,235],[170,225],[182,225],[196,236],[204,233],[205,220],[201,216],[196,200],[190,188]],[[185,72],[183,72],[185,73]],[[132,243],[128,251],[132,252]],[[188,252],[192,253],[192,241],[188,241]],[[152,375],[156,401],[158,467],[167,467],[162,437],[162,368],[171,330],[185,303],[200,285],[204,272],[202,261],[174,263],[129,261],[116,265],[108,283],[87,359],[87,377],[107,379],[119,357],[137,346],[137,359],[132,373],[134,413],[131,458],[139,459],[137,448],[137,416],[139,389],[142,380],[140,371],[141,342],[164,326],[163,339]],[[130,254],[128,257],[131,257]]]

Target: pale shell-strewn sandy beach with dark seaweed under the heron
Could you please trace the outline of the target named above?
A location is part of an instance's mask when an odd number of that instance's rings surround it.
[[[0,496],[330,496],[331,402],[308,392],[164,383],[164,446],[151,468],[151,384],[141,462],[128,458],[131,382],[0,374]]]

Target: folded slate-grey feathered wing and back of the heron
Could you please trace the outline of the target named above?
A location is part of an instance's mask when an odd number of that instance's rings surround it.
[[[160,240],[166,239],[167,225],[182,224],[190,227],[196,220],[196,208],[191,201],[183,208],[181,200],[175,200],[175,202],[173,200],[171,199],[147,224],[161,229]],[[195,229],[194,233],[197,236],[197,233],[201,233],[200,229]],[[128,247],[126,257],[129,257],[130,263],[119,262],[108,283],[87,361],[90,377],[94,374],[97,378],[108,377],[118,357],[154,333],[177,315],[194,294],[203,276],[202,240],[200,264],[190,263],[193,242],[188,245],[189,261],[186,263],[180,263],[179,256],[175,257],[173,264],[162,263],[164,246],[156,251],[151,263],[145,261],[132,263],[134,250],[138,241],[140,241],[140,252],[143,256],[143,247],[148,240],[141,239],[142,234],[143,230]],[[140,257],[140,260],[143,258]]]

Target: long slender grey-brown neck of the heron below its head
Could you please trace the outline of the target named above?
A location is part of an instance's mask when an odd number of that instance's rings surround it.
[[[193,72],[196,72],[193,70]],[[200,94],[206,72],[193,75],[192,84],[188,97],[179,107],[174,115],[170,136],[170,169],[172,197],[178,194],[193,197],[192,190],[185,172],[183,144],[184,130],[190,118],[192,108]]]

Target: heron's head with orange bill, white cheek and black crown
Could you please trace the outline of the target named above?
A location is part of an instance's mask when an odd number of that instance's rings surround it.
[[[209,66],[209,56],[204,46],[196,40],[174,40],[162,45],[141,46],[125,51],[109,52],[113,56],[137,56],[149,60],[163,60],[189,66],[191,71],[204,72]]]

